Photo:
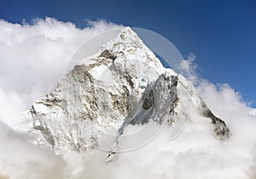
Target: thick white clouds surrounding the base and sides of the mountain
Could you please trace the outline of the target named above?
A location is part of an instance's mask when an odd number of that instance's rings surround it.
[[[196,89],[230,127],[229,141],[216,140],[211,129],[192,121],[176,140],[168,140],[170,131],[164,129],[147,146],[119,153],[108,165],[102,151],[57,156],[30,143],[20,131],[26,130],[20,112],[54,89],[80,45],[119,27],[104,20],[90,21],[84,29],[53,18],[32,25],[0,20],[0,179],[256,178],[256,110],[228,84],[215,85],[196,74]],[[191,117],[208,125],[194,112]]]

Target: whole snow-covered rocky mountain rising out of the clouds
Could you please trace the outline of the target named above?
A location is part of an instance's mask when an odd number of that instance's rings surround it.
[[[212,130],[208,132],[216,140],[230,137],[224,120],[211,112],[189,80],[162,66],[126,27],[95,55],[74,66],[27,115],[32,118],[30,132],[38,145],[49,146],[55,153],[100,148],[108,151],[107,160],[111,160],[114,153],[143,144],[122,143],[130,135],[129,126],[144,129],[156,123],[169,127],[172,137],[185,124],[204,128],[201,120],[189,115],[191,110],[209,121]]]

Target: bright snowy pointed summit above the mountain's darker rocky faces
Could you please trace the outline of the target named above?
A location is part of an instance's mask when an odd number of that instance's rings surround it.
[[[82,63],[90,66],[92,76],[97,79],[102,77],[102,72],[108,70],[113,63],[127,69],[136,68],[139,75],[147,76],[149,81],[154,81],[163,72],[177,75],[172,69],[162,66],[160,60],[129,26],[121,29],[108,43],[104,43],[95,55],[84,58]]]

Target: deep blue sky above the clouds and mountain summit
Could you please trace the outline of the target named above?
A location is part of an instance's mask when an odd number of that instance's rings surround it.
[[[228,83],[256,107],[256,1],[14,1],[1,0],[0,19],[45,16],[86,26],[105,19],[168,38],[186,58],[192,52],[201,76]]]

